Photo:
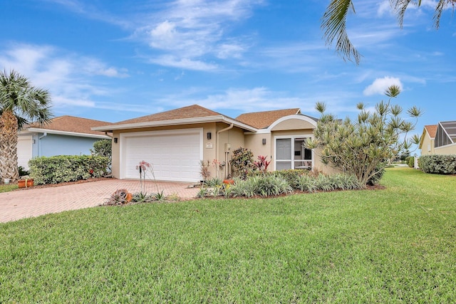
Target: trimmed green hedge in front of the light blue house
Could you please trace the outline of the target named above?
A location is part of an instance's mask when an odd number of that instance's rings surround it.
[[[108,157],[90,155],[59,155],[36,157],[28,162],[34,184],[76,182],[108,173]]]

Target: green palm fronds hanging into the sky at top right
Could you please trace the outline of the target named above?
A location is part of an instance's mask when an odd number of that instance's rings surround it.
[[[409,4],[421,5],[421,0],[390,0],[400,27],[403,26],[404,14]],[[435,28],[440,26],[440,17],[442,12],[448,6],[455,7],[456,0],[439,0],[435,6],[434,25]],[[323,18],[321,19],[321,28],[323,36],[326,38],[326,45],[334,44],[336,52],[342,56],[343,60],[355,61],[359,64],[361,54],[356,50],[350,38],[348,38],[346,20],[349,13],[355,14],[355,7],[352,0],[331,0],[326,8]]]

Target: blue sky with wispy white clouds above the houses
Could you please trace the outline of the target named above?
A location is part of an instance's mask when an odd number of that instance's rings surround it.
[[[1,1],[0,68],[47,88],[53,114],[116,122],[199,104],[236,117],[317,101],[338,117],[375,105],[388,85],[418,105],[424,125],[456,120],[456,19],[433,28],[435,3],[399,28],[388,0],[354,1],[348,33],[363,55],[325,46],[329,1]]]

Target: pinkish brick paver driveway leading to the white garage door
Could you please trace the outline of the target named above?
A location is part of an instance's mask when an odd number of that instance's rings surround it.
[[[163,191],[167,196],[177,195],[180,199],[191,199],[197,188],[178,182],[145,182],[147,193]],[[59,187],[26,189],[0,193],[0,222],[16,221],[43,214],[99,206],[117,189],[140,192],[138,180],[106,179],[83,184],[68,184]]]

